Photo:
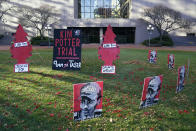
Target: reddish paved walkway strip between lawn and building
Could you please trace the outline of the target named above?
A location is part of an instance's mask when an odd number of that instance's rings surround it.
[[[98,44],[83,44],[83,48],[98,48]],[[9,50],[9,45],[1,45],[1,50]],[[134,48],[134,49],[157,49],[157,50],[180,50],[180,51],[194,51],[196,52],[196,46],[174,46],[174,47],[146,47],[143,45],[132,45],[132,44],[126,44],[126,45],[120,45],[120,48]],[[33,49],[53,49],[52,46],[33,46]]]

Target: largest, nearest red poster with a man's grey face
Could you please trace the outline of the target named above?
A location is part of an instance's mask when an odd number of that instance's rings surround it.
[[[74,84],[74,120],[86,120],[102,114],[103,81]]]

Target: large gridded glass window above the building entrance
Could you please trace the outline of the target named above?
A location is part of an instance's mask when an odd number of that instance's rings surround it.
[[[78,0],[78,17],[128,18],[129,2],[126,0]]]

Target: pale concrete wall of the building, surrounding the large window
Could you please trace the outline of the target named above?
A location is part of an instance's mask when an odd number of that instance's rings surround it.
[[[196,0],[132,0],[131,14],[129,19],[78,19],[78,0],[10,0],[9,4],[17,7],[38,8],[40,5],[47,4],[53,7],[59,16],[59,22],[54,28],[67,27],[107,27],[111,24],[112,27],[136,27],[135,43],[140,43],[148,39],[145,22],[141,21],[143,9],[153,7],[157,4],[163,4],[169,8],[175,9],[183,13],[185,17],[196,19]],[[18,26],[18,17],[20,12],[12,12],[6,16],[7,21],[0,31],[15,32]],[[35,36],[36,30],[25,28],[30,36]],[[196,26],[189,32],[196,33]],[[185,31],[172,32],[175,35],[185,35]],[[153,32],[153,37],[157,36],[156,31]]]

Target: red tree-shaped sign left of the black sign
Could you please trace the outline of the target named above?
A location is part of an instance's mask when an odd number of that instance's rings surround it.
[[[32,56],[32,46],[27,39],[27,33],[19,25],[14,35],[13,44],[10,47],[12,58],[17,60],[14,65],[14,72],[29,72],[29,64],[26,59]]]

